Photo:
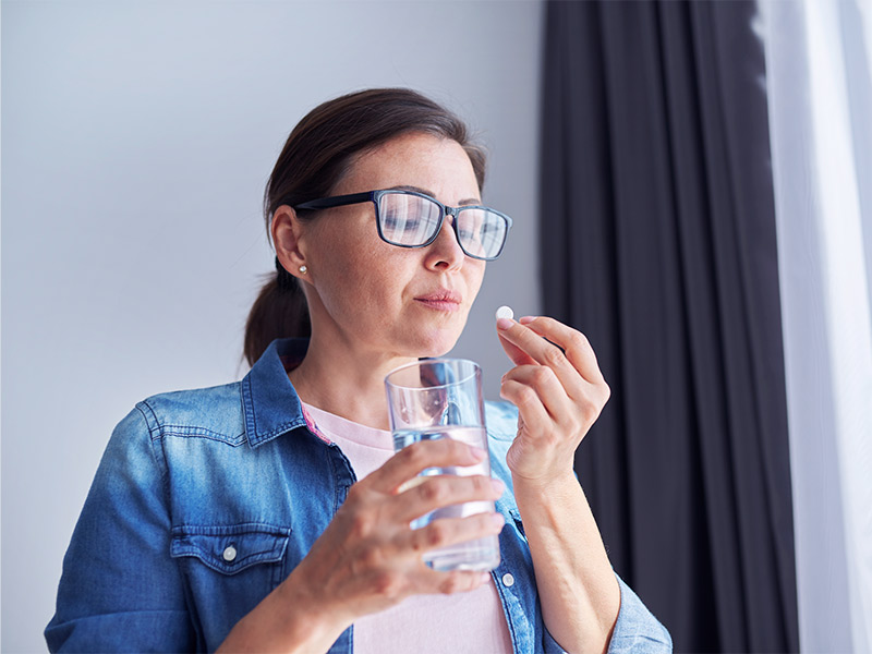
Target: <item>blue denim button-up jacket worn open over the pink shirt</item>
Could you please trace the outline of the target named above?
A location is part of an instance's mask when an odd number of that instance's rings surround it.
[[[148,398],[116,427],[63,561],[55,651],[214,651],[310,550],[355,477],[306,421],[274,341],[234,384]],[[487,404],[493,474],[507,484],[493,578],[514,652],[561,652],[545,629],[506,451],[517,411]],[[669,634],[620,581],[610,652],[667,652]],[[350,653],[353,626],[330,652]]]

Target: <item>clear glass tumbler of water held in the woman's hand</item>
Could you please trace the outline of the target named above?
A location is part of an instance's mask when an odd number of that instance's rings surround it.
[[[453,438],[487,451],[482,399],[482,368],[465,359],[428,359],[392,371],[385,378],[393,449],[435,438]],[[421,480],[437,474],[491,475],[491,460],[475,465],[429,468]],[[438,518],[464,518],[493,511],[492,501],[472,501],[437,509],[412,522],[420,529]],[[499,565],[499,540],[486,536],[424,555],[436,570],[493,570]]]

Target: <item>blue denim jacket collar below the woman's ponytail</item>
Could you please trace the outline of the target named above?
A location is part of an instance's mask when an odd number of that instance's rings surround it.
[[[276,339],[242,379],[242,409],[249,445],[259,447],[306,426],[300,398],[288,379],[305,356],[308,339]]]

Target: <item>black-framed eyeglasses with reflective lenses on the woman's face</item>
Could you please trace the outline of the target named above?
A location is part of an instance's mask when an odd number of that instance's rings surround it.
[[[329,209],[363,202],[375,205],[378,235],[400,247],[426,247],[439,235],[446,215],[464,254],[486,262],[502,252],[511,218],[488,207],[449,207],[416,191],[389,189],[324,197],[296,205],[294,209]]]

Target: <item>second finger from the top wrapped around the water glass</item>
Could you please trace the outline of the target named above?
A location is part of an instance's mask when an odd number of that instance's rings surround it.
[[[451,505],[494,501],[506,489],[506,485],[499,480],[477,474],[419,476],[411,482],[414,486],[400,493],[392,507],[393,516],[401,522],[411,522],[425,513]]]

